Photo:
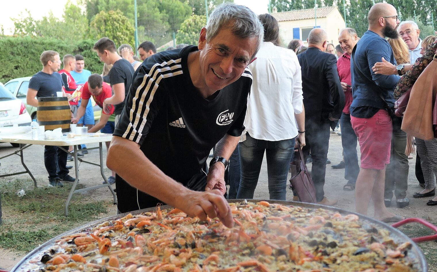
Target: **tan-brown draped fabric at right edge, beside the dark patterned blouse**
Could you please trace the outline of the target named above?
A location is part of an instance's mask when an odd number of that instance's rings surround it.
[[[434,107],[436,94],[437,53],[411,88],[408,105],[402,119],[401,129],[403,131],[426,141],[437,138],[433,125],[434,123],[437,125],[437,109]]]

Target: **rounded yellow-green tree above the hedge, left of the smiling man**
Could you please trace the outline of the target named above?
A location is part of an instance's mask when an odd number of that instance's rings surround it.
[[[90,34],[96,40],[108,37],[115,46],[134,44],[134,27],[120,10],[98,13],[90,23]]]

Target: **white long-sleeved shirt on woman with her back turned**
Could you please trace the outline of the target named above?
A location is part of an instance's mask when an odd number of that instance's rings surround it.
[[[295,138],[295,114],[303,110],[302,73],[296,54],[263,42],[249,68],[253,83],[244,120],[246,131],[267,141]]]

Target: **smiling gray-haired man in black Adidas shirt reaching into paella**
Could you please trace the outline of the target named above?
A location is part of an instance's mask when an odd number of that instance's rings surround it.
[[[224,171],[244,129],[247,65],[263,34],[253,11],[224,3],[198,47],[154,54],[137,69],[108,150],[108,167],[124,179],[116,179],[119,211],[164,202],[232,226]]]

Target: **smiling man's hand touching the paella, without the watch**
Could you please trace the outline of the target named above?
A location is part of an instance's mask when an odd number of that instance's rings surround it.
[[[217,217],[228,228],[232,228],[234,225],[231,207],[219,190],[206,192],[189,190],[184,196],[178,197],[174,206],[191,217],[197,216],[202,221],[206,220],[207,216],[209,218]]]

